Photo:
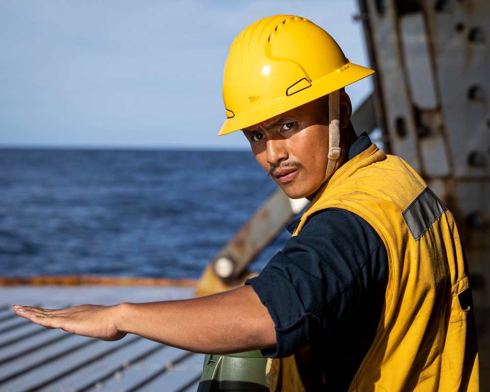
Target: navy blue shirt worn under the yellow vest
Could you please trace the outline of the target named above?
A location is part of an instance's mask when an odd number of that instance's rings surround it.
[[[370,145],[361,135],[348,159]],[[293,232],[296,222],[286,228]],[[282,358],[310,345],[327,387],[348,389],[374,339],[387,274],[386,247],[368,222],[338,208],[314,215],[246,282],[276,326],[277,345],[263,353]]]

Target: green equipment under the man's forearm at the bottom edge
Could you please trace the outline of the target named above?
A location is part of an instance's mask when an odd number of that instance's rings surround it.
[[[269,392],[265,358],[260,350],[237,354],[207,354],[197,392]]]

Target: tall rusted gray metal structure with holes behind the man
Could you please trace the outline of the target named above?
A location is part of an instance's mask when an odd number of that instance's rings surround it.
[[[475,305],[490,304],[490,2],[359,0],[385,149],[453,212]]]

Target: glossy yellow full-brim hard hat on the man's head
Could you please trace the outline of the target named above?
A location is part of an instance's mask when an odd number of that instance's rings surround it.
[[[373,72],[352,64],[325,30],[305,18],[261,19],[231,45],[223,74],[227,119],[219,135],[261,123]]]

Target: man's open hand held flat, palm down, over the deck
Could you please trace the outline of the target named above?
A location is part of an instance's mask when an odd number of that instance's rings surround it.
[[[115,341],[126,336],[117,328],[117,305],[80,305],[59,310],[14,305],[13,309],[24,319],[46,328],[61,328],[72,334],[105,341]]]

